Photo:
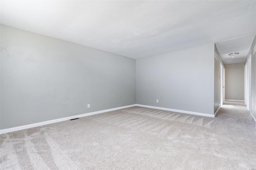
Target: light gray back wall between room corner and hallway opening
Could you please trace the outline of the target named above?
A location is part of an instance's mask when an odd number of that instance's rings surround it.
[[[137,59],[136,102],[213,115],[214,43]]]

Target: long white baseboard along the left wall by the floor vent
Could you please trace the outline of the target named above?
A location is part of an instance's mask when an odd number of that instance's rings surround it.
[[[70,119],[76,119],[76,118],[79,118],[79,117],[86,117],[86,116],[90,116],[90,115],[96,115],[96,114],[99,114],[99,113],[105,113],[105,112],[115,111],[115,110],[119,110],[119,109],[125,109],[125,108],[128,108],[128,107],[134,107],[134,106],[136,106],[136,104],[128,105],[128,106],[122,106],[122,107],[116,107],[116,108],[112,108],[112,109],[106,109],[106,110],[96,111],[96,112],[91,112],[91,113],[84,113],[82,115],[64,117],[64,118],[54,119],[54,120],[50,120],[50,121],[33,123],[33,124],[30,124],[30,125],[23,125],[23,126],[20,126],[20,127],[6,128],[6,129],[0,130],[0,134],[4,134],[4,133],[8,133],[8,132],[14,132],[14,131],[17,131],[17,130],[23,130],[23,129],[32,128],[32,127],[39,127],[39,126],[42,126],[42,125],[48,125],[48,124],[57,123],[57,122],[61,122],[61,121],[67,121],[67,120],[70,120]]]

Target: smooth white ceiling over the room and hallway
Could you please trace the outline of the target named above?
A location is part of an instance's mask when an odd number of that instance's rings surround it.
[[[215,42],[230,61],[228,53],[248,53],[256,34],[254,0],[0,3],[1,24],[134,59]]]

